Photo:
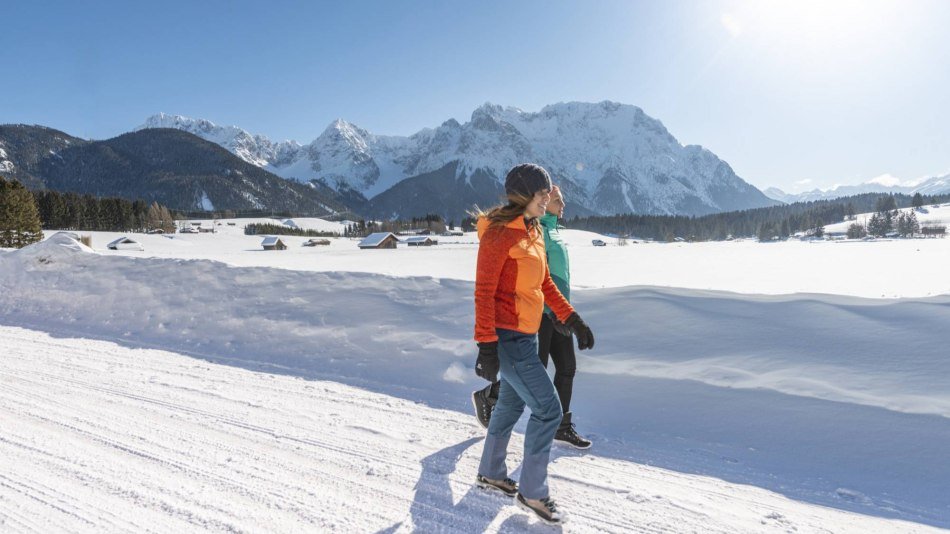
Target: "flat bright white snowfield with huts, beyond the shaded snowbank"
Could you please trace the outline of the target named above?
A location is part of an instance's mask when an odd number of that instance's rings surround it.
[[[921,223],[950,222],[950,205],[919,214]],[[246,236],[248,222],[286,222],[288,226],[342,231],[319,219],[238,219],[221,221],[215,234],[174,236],[134,234],[144,252],[108,251],[106,244],[126,234],[87,232],[93,247],[109,255],[206,259],[238,267],[277,267],[298,271],[346,271],[390,276],[432,276],[475,280],[477,238],[435,236],[436,247],[360,250],[358,239],[331,238],[329,246],[303,247],[306,237],[284,237],[288,250],[264,251],[262,236]],[[228,226],[227,222],[234,222]],[[844,223],[842,223],[843,225]],[[210,221],[204,221],[211,227]],[[829,231],[845,226],[829,225]],[[838,228],[841,226],[841,228]],[[47,232],[47,235],[52,232]],[[798,241],[758,243],[628,242],[591,232],[567,230],[572,285],[578,289],[652,286],[710,289],[734,293],[828,293],[868,298],[927,297],[950,293],[950,246],[943,239],[876,241]],[[609,246],[595,247],[592,239]]]

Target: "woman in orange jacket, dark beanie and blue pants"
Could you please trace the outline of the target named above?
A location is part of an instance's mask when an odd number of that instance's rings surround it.
[[[548,271],[538,218],[551,199],[551,177],[534,164],[517,165],[505,178],[508,203],[478,218],[475,274],[475,372],[494,382],[498,402],[488,425],[476,483],[516,496],[518,506],[548,523],[563,520],[547,485],[551,442],[561,423],[561,403],[538,358],[538,328],[547,305],[577,336],[583,350],[594,346],[590,328],[558,291]],[[525,432],[520,484],[508,478],[508,440],[531,409]]]

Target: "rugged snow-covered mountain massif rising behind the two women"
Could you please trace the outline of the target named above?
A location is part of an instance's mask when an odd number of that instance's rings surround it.
[[[525,161],[552,172],[575,213],[700,214],[774,203],[712,152],[683,146],[640,108],[609,101],[537,113],[487,103],[469,122],[449,119],[408,137],[336,120],[308,145],[164,114],[148,127],[183,129],[285,178],[358,192],[381,216],[439,211],[447,194],[497,198],[507,170]]]

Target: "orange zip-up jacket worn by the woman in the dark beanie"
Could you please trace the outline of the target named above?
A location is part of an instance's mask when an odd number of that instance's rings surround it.
[[[489,224],[478,219],[475,341],[497,341],[496,328],[537,333],[545,304],[566,321],[574,308],[551,280],[540,232],[523,217],[503,227]]]

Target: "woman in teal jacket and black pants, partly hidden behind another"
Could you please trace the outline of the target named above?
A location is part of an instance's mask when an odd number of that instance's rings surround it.
[[[567,247],[558,228],[558,219],[564,217],[564,196],[561,190],[554,186],[551,190],[551,201],[548,202],[547,212],[541,216],[540,222],[544,230],[544,249],[547,253],[548,269],[554,284],[568,301],[571,299],[571,266],[567,254]],[[545,367],[548,358],[554,361],[554,389],[561,399],[561,409],[564,416],[558,427],[555,441],[560,441],[578,449],[587,449],[591,446],[590,440],[577,433],[571,420],[571,394],[574,389],[574,374],[577,371],[577,357],[574,355],[574,339],[570,330],[559,323],[554,313],[544,307],[541,317],[541,328],[538,331],[538,357]],[[482,426],[488,428],[491,413],[498,401],[498,382],[490,384],[472,394],[472,403],[475,406],[475,416]]]

